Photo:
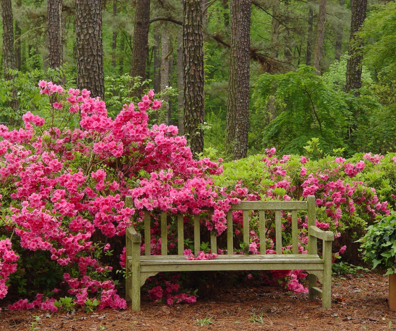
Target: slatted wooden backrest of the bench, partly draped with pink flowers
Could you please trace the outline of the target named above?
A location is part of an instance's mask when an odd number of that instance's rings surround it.
[[[126,197],[126,205],[132,207],[132,199],[130,196]],[[315,196],[308,196],[307,201],[242,201],[240,204],[232,205],[230,211],[227,213],[227,254],[233,254],[233,226],[232,226],[232,211],[242,210],[243,215],[243,242],[249,245],[249,211],[254,210],[259,213],[259,240],[260,247],[265,247],[265,211],[275,211],[275,244],[276,254],[282,254],[282,219],[281,211],[291,211],[291,236],[293,243],[292,254],[298,254],[298,230],[297,230],[297,212],[307,211],[308,228],[311,225],[316,225],[315,212]],[[144,211],[144,238],[150,238],[150,211]],[[167,236],[167,212],[161,213],[161,254],[168,254],[168,236]],[[177,214],[177,254],[183,255],[184,251],[184,214]],[[194,253],[198,254],[200,251],[200,215],[193,215],[194,218]],[[311,238],[309,238],[311,239]],[[314,238],[312,238],[314,239]],[[217,237],[215,230],[210,233],[210,245],[213,253],[217,253]],[[265,254],[265,249],[260,249],[261,254]],[[308,241],[308,253],[316,254],[316,240]],[[145,245],[145,255],[150,255],[150,245]]]

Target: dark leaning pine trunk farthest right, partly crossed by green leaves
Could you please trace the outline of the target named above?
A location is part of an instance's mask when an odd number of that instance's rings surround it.
[[[349,92],[352,89],[360,89],[362,87],[362,66],[363,53],[360,50],[363,46],[363,40],[358,39],[355,33],[358,32],[366,19],[367,0],[353,0],[351,4],[351,22],[350,22],[350,43],[354,46],[349,46],[348,64],[346,66],[346,84],[345,91]],[[356,92],[359,95],[359,92]]]

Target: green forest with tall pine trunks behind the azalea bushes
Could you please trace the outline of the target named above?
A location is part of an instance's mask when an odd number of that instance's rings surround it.
[[[157,96],[166,102],[150,122],[177,125],[190,139],[203,135],[204,143],[192,144],[192,150],[203,152],[204,146],[206,154],[225,160],[268,147],[301,154],[313,137],[324,153],[337,148],[345,148],[344,156],[394,151],[394,2],[356,0],[353,8],[348,0],[187,1],[202,11],[204,84],[192,93],[192,101],[183,100],[185,18],[180,1],[92,1],[95,17],[88,17],[88,7],[80,3],[76,14],[78,6],[70,0],[52,1],[52,9],[46,1],[2,1],[6,68],[0,118],[5,124],[19,126],[28,110],[40,115],[37,82],[57,73],[67,87],[77,85],[104,97],[112,116],[143,88],[161,91]],[[7,4],[12,6],[8,11]],[[147,20],[146,38],[140,23]],[[97,37],[91,60],[103,61],[103,69],[95,72],[93,65],[82,86],[78,63],[89,62],[92,55],[78,52],[78,38],[87,22],[101,28],[101,36],[99,30],[90,32]],[[235,56],[230,57],[230,48]],[[142,58],[144,68],[139,69]],[[48,70],[56,67],[55,73]],[[150,82],[139,88],[129,75]],[[95,88],[101,85],[104,92]],[[196,99],[199,94],[203,102]],[[198,122],[189,122],[191,112],[198,114]]]

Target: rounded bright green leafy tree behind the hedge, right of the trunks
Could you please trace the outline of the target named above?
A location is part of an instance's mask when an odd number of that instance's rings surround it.
[[[263,147],[301,154],[301,146],[312,137],[320,138],[325,152],[343,145],[349,117],[344,96],[327,86],[312,67],[302,65],[295,72],[262,74],[252,101],[267,122]]]

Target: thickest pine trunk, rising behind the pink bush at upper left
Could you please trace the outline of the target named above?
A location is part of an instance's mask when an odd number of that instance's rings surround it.
[[[76,0],[77,87],[105,97],[101,0]]]

